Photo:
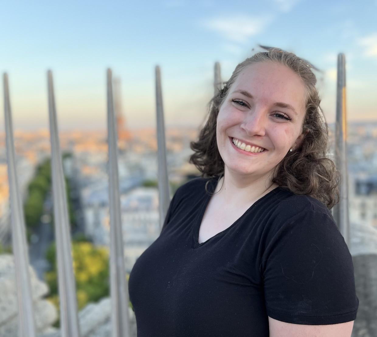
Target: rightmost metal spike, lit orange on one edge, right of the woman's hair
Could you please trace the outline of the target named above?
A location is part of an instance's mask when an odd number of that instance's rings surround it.
[[[346,117],[346,60],[343,53],[338,54],[335,159],[340,171],[340,200],[333,208],[334,220],[349,244],[348,215],[348,172],[346,158],[347,117]]]

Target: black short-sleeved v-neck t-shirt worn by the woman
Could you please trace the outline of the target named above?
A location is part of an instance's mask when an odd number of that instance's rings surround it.
[[[356,318],[352,258],[325,204],[278,187],[199,243],[207,181],[215,191],[218,177],[178,188],[161,234],[132,268],[138,337],[264,337],[268,316],[305,325]]]

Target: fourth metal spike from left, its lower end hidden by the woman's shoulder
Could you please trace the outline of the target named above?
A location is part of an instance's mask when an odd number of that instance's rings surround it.
[[[156,66],[156,118],[157,118],[157,160],[158,160],[158,197],[160,229],[164,224],[170,204],[170,186],[167,173],[164,108],[162,106],[161,72]]]

